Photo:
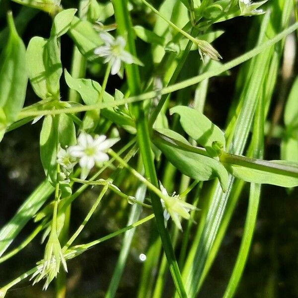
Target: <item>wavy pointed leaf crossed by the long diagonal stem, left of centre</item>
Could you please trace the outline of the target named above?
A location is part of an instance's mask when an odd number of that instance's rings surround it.
[[[98,102],[99,94],[101,92],[101,86],[98,82],[91,79],[74,78],[68,73],[67,70],[65,70],[65,80],[71,89],[76,90],[80,94],[80,96],[82,97],[82,100],[86,105],[91,105]],[[117,97],[119,92],[117,92]],[[109,93],[104,92],[103,102],[111,102],[111,101],[114,101],[114,97]],[[102,109],[100,113],[105,118],[122,126],[128,132],[131,132],[133,134],[136,133],[134,122],[130,117],[116,113],[113,108]]]

